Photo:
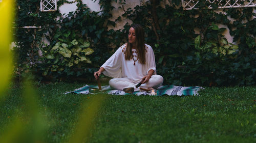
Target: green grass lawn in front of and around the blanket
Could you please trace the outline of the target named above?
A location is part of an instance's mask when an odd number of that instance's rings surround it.
[[[45,142],[67,142],[79,112],[104,96],[89,142],[256,142],[256,87],[205,88],[200,96],[63,94],[82,83],[35,88],[47,130]],[[0,134],[14,115],[23,118],[22,89],[12,85],[0,101]],[[26,120],[26,119],[24,119]]]

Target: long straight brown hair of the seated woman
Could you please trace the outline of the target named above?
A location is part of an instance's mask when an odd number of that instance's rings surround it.
[[[144,29],[140,24],[132,24],[131,27],[135,30],[136,44],[134,45],[137,48],[139,63],[146,64],[145,58],[145,40],[144,40]],[[132,53],[132,44],[128,41],[125,51],[125,60],[130,60],[133,58]]]

